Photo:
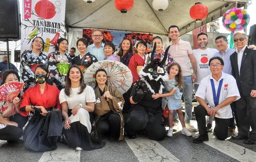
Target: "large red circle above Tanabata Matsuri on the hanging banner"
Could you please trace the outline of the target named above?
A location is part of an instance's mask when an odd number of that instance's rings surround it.
[[[52,19],[55,14],[55,6],[48,0],[40,0],[35,5],[36,14],[42,19]]]

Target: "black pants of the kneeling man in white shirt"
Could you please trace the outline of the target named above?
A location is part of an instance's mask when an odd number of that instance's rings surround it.
[[[208,115],[207,111],[202,105],[198,105],[195,107],[194,112],[195,112],[197,127],[199,130],[199,135],[207,134],[206,126],[205,126],[206,125],[205,116]],[[229,118],[215,117],[214,133],[218,139],[225,140],[228,137],[229,122],[230,122]]]

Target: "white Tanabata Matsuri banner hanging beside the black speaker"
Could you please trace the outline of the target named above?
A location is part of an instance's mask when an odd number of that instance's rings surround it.
[[[21,53],[31,50],[35,37],[42,37],[43,53],[55,52],[55,44],[61,37],[66,38],[66,0],[22,0]],[[50,41],[51,40],[51,41]]]

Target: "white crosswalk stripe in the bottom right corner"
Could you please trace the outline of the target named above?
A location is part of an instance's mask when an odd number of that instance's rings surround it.
[[[221,151],[222,153],[240,161],[240,162],[255,162],[256,153],[249,149],[246,149],[238,144],[229,142],[227,140],[221,141],[216,139],[212,134],[209,134],[209,141],[204,143],[211,146],[212,148]]]

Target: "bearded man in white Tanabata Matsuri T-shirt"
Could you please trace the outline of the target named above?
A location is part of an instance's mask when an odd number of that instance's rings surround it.
[[[199,86],[200,81],[211,74],[209,69],[209,60],[212,58],[218,50],[208,48],[209,39],[208,35],[205,33],[200,33],[197,35],[197,43],[199,49],[192,50],[195,57],[196,69],[197,69],[197,81],[194,82],[195,93]],[[207,131],[212,131],[212,121],[213,117],[207,116]]]

